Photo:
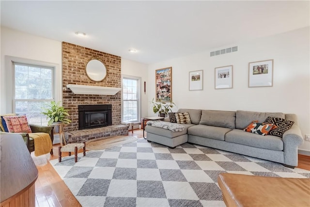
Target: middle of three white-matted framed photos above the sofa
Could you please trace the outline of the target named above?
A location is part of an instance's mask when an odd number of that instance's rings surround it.
[[[215,89],[233,88],[233,65],[215,68]]]

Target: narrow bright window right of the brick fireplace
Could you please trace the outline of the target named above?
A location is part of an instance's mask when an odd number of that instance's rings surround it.
[[[123,77],[123,121],[138,122],[140,119],[140,78]]]

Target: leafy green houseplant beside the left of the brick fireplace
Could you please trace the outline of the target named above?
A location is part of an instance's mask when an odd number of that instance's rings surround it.
[[[69,110],[64,109],[63,106],[60,106],[60,101],[57,103],[55,101],[51,101],[49,104],[46,104],[47,107],[43,108],[43,114],[49,118],[48,125],[52,125],[54,122],[62,122],[63,124],[71,123],[69,119],[70,115],[68,113]]]

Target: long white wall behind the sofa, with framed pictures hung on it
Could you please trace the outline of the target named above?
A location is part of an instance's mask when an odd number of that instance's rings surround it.
[[[210,50],[151,64],[148,99],[155,97],[155,69],[172,66],[172,101],[177,108],[295,113],[302,135],[310,134],[309,36],[307,27],[215,48],[238,46],[233,53],[210,57]],[[269,59],[274,59],[273,87],[248,88],[248,63]],[[233,88],[215,89],[215,67],[226,65],[233,65]],[[188,90],[188,73],[195,70],[203,70],[202,91]],[[151,109],[148,115],[153,115]],[[310,151],[310,142],[299,149]]]

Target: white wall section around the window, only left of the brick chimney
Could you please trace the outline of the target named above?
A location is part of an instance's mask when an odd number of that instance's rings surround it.
[[[13,112],[12,102],[6,103],[7,98],[12,96],[13,82],[13,77],[11,80],[6,79],[7,73],[12,72],[8,66],[10,63],[6,63],[6,56],[56,65],[55,100],[62,99],[62,43],[1,27],[0,114]]]

